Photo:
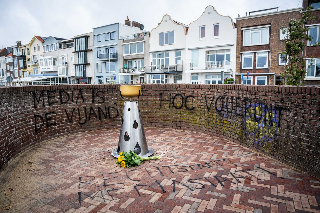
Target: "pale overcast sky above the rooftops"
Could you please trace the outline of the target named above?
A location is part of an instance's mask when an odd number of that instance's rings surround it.
[[[34,35],[72,38],[92,32],[93,27],[115,22],[124,24],[127,15],[148,31],[155,28],[165,14],[189,25],[209,5],[221,15],[234,19],[250,11],[301,7],[302,0],[0,0],[0,47],[13,46],[16,41],[27,44]]]

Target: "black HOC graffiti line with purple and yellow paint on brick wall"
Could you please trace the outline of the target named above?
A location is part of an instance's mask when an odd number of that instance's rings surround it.
[[[160,108],[166,103],[172,109],[202,110],[192,104],[193,95],[185,96],[183,94],[164,95],[160,93]],[[190,100],[188,100],[190,99]],[[252,138],[254,143],[263,145],[273,141],[278,133],[283,111],[289,111],[289,108],[273,106],[262,102],[252,102],[249,98],[234,96],[210,96],[204,95],[205,110],[216,112],[218,116],[225,120],[236,117],[243,118],[244,133]],[[203,104],[202,104],[203,105]],[[228,122],[226,122],[228,124]],[[223,122],[218,125],[224,125]]]

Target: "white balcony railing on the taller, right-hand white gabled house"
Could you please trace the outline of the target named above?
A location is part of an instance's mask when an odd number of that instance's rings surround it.
[[[231,69],[231,61],[205,61],[187,63],[187,70]]]

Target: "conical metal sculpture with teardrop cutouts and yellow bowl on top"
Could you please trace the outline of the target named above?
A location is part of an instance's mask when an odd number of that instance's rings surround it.
[[[119,157],[120,152],[129,153],[130,150],[140,157],[151,156],[154,151],[148,148],[138,104],[141,85],[121,85],[120,94],[123,99],[130,98],[130,101],[124,102],[118,148],[112,151],[112,156]],[[138,99],[132,101],[134,97]]]

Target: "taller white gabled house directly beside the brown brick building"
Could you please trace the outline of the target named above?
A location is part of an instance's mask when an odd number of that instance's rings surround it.
[[[213,6],[189,25],[186,43],[186,83],[223,83],[236,71],[236,26]],[[221,72],[223,71],[223,72]]]

